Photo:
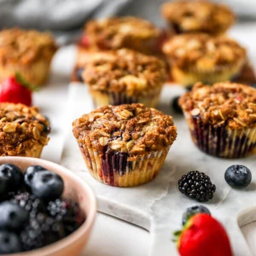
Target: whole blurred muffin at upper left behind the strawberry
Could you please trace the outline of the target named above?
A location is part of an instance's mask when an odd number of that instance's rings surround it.
[[[56,52],[52,36],[35,30],[5,29],[0,32],[0,81],[20,73],[30,84],[43,84]]]

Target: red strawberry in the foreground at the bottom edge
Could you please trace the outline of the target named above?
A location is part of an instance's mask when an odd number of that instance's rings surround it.
[[[224,227],[206,213],[193,215],[184,229],[175,232],[181,256],[232,256]]]

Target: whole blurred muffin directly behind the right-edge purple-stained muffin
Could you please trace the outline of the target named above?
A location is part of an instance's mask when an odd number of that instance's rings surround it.
[[[163,52],[172,78],[185,86],[232,80],[246,63],[245,49],[225,36],[177,35],[163,45]]]

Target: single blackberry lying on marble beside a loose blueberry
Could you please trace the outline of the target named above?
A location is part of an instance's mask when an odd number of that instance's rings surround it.
[[[198,171],[183,175],[178,181],[178,188],[182,194],[199,202],[212,199],[216,190],[216,186],[212,184],[209,176]]]

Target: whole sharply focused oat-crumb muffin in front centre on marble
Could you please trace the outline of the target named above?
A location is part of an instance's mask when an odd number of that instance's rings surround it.
[[[137,186],[161,169],[177,136],[172,117],[142,104],[104,106],[73,122],[91,175],[112,186]]]

